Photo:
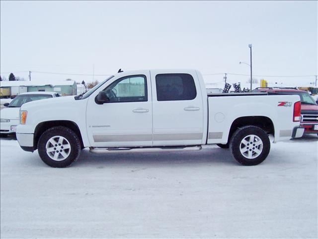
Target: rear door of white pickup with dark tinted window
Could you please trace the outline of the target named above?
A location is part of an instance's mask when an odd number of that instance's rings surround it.
[[[151,81],[154,146],[202,144],[203,102],[196,72],[154,70]]]

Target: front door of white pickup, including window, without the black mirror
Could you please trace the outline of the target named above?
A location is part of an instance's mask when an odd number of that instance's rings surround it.
[[[98,105],[94,92],[87,102],[86,128],[93,147],[153,145],[150,71],[110,79],[104,90],[109,102]]]

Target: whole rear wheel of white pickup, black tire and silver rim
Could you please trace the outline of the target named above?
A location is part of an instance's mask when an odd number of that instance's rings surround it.
[[[263,129],[249,125],[235,131],[230,148],[232,155],[240,164],[257,165],[266,159],[270,150],[270,141]]]

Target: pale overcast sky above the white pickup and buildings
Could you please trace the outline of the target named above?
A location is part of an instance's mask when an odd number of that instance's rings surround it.
[[[149,68],[202,74],[318,73],[317,1],[1,1],[0,72],[32,80],[92,81]],[[224,75],[205,76],[220,82]],[[95,76],[103,80],[106,76]],[[246,82],[248,76],[229,75]],[[309,85],[315,77],[264,78]]]

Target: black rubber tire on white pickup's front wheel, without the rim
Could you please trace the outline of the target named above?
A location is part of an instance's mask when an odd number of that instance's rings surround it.
[[[48,143],[49,139],[54,136],[62,136],[69,141],[69,155],[61,161],[56,161],[52,159],[46,152],[46,144]],[[38,151],[42,161],[47,165],[54,168],[69,167],[79,158],[80,140],[77,134],[72,129],[63,126],[55,126],[47,129],[45,132],[42,133],[38,141]]]

